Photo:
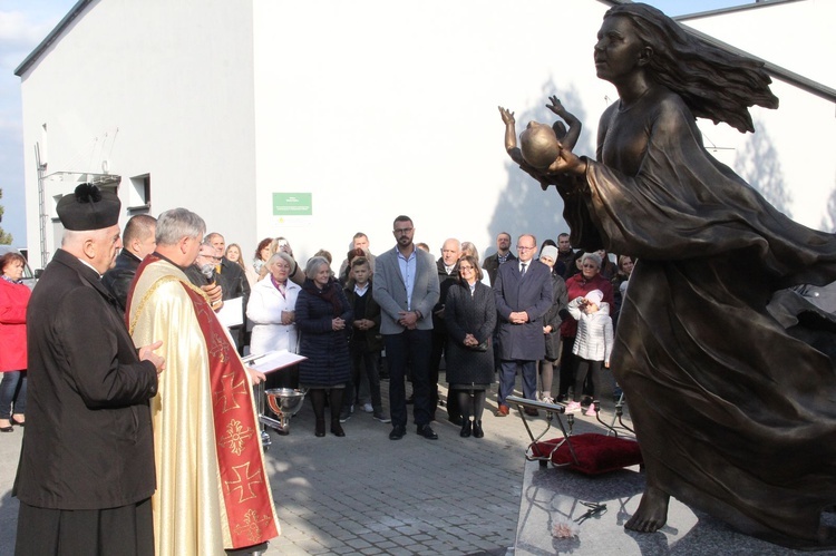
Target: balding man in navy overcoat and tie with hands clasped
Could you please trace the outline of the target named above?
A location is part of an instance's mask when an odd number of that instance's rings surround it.
[[[505,398],[514,393],[517,369],[523,371],[523,396],[536,399],[537,361],[545,355],[543,315],[552,306],[551,270],[534,260],[537,240],[531,234],[517,240],[517,261],[499,266],[494,283],[499,315],[499,408],[508,414]],[[536,410],[526,410],[536,414]]]

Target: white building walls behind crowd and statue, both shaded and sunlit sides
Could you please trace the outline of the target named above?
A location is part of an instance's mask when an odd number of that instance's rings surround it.
[[[789,6],[808,2],[828,3]],[[436,255],[449,236],[482,254],[499,231],[554,238],[566,231],[562,204],[505,154],[497,105],[516,111],[521,131],[529,119],[553,121],[544,105],[557,95],[584,123],[576,150],[594,154],[597,118],[615,99],[592,64],[607,7],[560,7],[93,2],[23,76],[30,247],[43,123],[48,173],[98,173],[106,158],[123,193],[129,177],[149,173],[152,214],[189,207],[247,259],[259,238],[284,235],[301,261],[327,248],[337,265],[357,231],[379,253],[393,245],[401,213]],[[756,46],[751,53],[766,58]],[[791,214],[818,226],[836,175],[834,106],[780,82],[775,92],[780,110],[754,110],[759,135],[707,123],[707,144],[729,147],[718,158],[782,187]],[[311,194],[310,215],[273,214],[274,194],[297,193]]]

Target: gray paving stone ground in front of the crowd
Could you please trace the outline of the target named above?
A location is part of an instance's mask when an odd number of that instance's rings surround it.
[[[388,411],[388,381],[381,387]],[[444,386],[440,391],[444,399]],[[497,418],[495,409],[496,386],[483,439],[460,438],[444,408],[432,425],[435,441],[412,425],[404,439],[389,440],[391,426],[359,408],[343,423],[346,438],[317,438],[305,400],[289,435],[271,432],[266,464],[282,535],[266,554],[512,553],[528,436],[516,411]],[[13,553],[11,486],[21,437],[20,429],[0,437],[0,554]]]

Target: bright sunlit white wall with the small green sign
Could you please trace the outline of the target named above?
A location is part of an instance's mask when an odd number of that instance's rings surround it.
[[[502,230],[566,231],[556,193],[512,166],[497,110],[515,110],[522,131],[535,109],[553,121],[544,105],[557,94],[585,114],[592,148],[613,96],[592,64],[606,6],[561,9],[576,23],[555,21],[546,0],[256,0],[257,235],[339,264],[358,231],[373,252],[391,248],[399,214],[436,256],[450,236],[484,254]],[[312,193],[313,214],[274,216],[275,192]]]

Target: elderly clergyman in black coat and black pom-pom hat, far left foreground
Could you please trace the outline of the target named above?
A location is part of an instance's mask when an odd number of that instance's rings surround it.
[[[26,441],[14,480],[16,554],[153,555],[156,487],[148,400],[162,342],[135,349],[101,285],[121,246],[120,203],[90,184],[57,212],[61,248],[27,314]]]

